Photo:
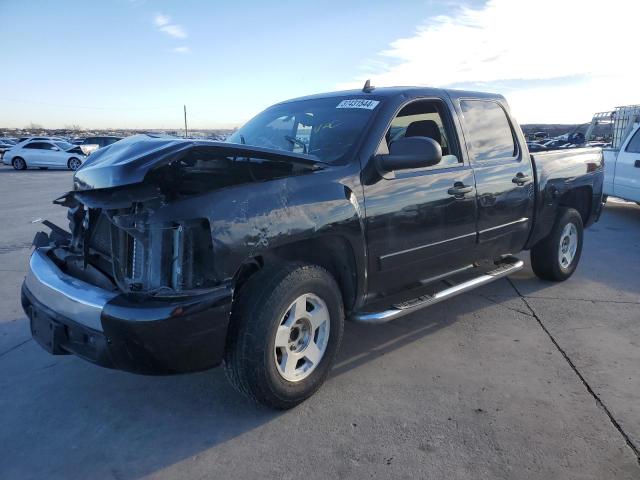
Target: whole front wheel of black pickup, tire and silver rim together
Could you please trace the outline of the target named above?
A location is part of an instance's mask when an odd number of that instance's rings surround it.
[[[325,269],[292,263],[258,272],[234,300],[227,377],[253,400],[292,408],[326,379],[343,324],[340,289]]]

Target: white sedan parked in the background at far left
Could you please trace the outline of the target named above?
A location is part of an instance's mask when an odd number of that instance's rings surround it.
[[[67,168],[77,170],[86,156],[77,145],[63,140],[28,140],[7,150],[2,163],[16,170]]]

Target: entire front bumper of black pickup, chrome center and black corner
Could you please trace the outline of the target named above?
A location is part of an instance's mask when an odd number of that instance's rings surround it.
[[[152,375],[195,372],[222,362],[231,286],[141,301],[67,275],[48,250],[37,248],[31,255],[22,307],[33,338],[49,353]]]

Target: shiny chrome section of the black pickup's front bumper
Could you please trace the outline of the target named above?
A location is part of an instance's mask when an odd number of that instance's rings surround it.
[[[47,256],[47,250],[48,247],[37,248],[31,255],[24,282],[26,288],[48,309],[102,332],[102,310],[118,293],[67,275]]]

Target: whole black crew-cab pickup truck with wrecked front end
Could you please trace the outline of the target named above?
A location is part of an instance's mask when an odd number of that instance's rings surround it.
[[[380,88],[274,105],[227,142],[138,135],[74,175],[40,232],[33,337],[144,374],[224,363],[289,408],[344,319],[382,323],[523,267],[565,280],[602,209],[599,149],[530,155],[499,95]]]

